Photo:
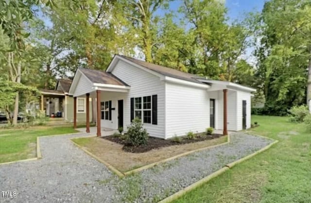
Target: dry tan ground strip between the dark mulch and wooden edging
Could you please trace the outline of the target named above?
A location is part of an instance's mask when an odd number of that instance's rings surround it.
[[[122,150],[123,145],[103,139],[102,137],[76,138],[72,139],[72,141],[111,164],[119,171],[126,172],[181,153],[225,143],[227,141],[227,136],[153,149],[143,153],[124,152],[124,150]]]

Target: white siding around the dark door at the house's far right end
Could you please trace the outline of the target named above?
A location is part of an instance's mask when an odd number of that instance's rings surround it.
[[[242,130],[242,101],[246,101],[246,128],[251,127],[251,94],[249,92],[238,91],[237,102],[237,128]]]

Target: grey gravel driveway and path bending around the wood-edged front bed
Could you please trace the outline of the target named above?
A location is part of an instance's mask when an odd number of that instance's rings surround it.
[[[40,138],[43,159],[0,166],[0,191],[17,191],[0,202],[157,202],[272,140],[236,133],[230,144],[181,157],[119,179],[69,138]]]

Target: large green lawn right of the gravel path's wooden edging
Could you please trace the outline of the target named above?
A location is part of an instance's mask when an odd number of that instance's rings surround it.
[[[253,116],[258,135],[279,140],[175,203],[311,203],[311,133],[285,117]]]

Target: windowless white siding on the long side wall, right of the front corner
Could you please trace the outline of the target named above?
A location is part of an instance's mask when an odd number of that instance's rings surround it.
[[[206,89],[166,83],[166,138],[204,132],[209,126]],[[159,108],[158,108],[159,109]]]

